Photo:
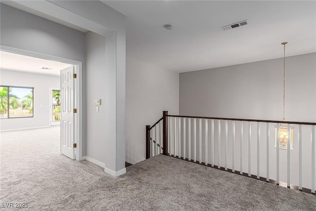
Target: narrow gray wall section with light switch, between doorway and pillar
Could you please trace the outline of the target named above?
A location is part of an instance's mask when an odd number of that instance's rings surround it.
[[[84,90],[86,101],[85,123],[86,128],[86,151],[83,155],[105,163],[105,114],[106,114],[106,88],[105,88],[105,70],[100,71],[105,66],[105,38],[93,32],[87,32],[85,36],[86,47],[86,65],[84,81],[86,89]],[[95,77],[98,76],[98,77]],[[94,99],[101,99],[99,112],[96,112]]]

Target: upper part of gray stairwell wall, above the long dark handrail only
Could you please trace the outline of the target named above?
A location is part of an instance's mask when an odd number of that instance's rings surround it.
[[[285,118],[316,121],[316,53],[286,58]],[[283,59],[180,74],[181,115],[282,120]]]

